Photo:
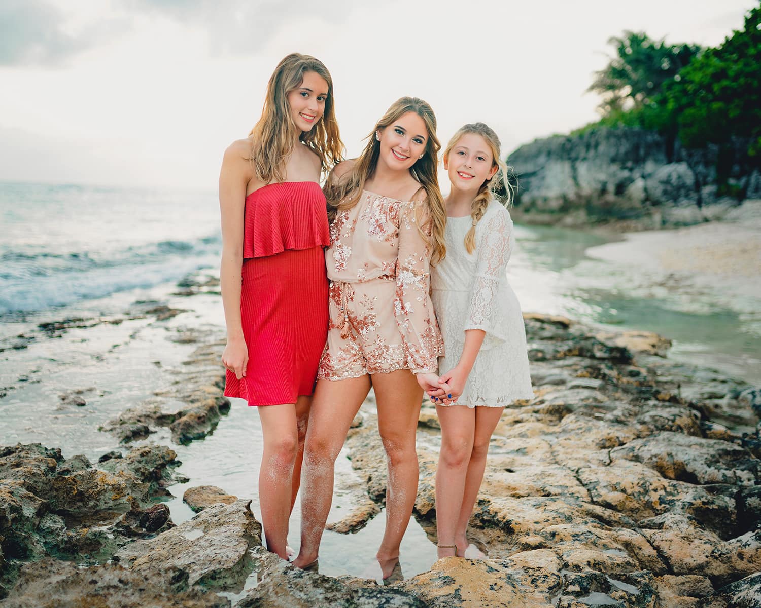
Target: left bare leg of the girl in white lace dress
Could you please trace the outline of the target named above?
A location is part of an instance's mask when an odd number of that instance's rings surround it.
[[[476,410],[464,405],[436,406],[441,423],[441,451],[436,470],[436,530],[438,556],[454,556],[454,534],[463,506],[465,480],[470,454],[473,451],[473,433]],[[447,546],[442,549],[441,546]]]

